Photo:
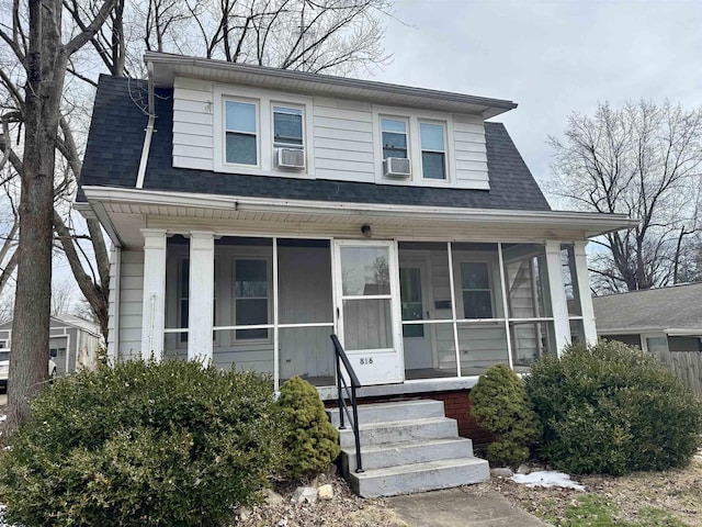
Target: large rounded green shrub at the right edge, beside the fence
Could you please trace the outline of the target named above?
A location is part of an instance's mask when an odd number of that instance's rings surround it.
[[[566,348],[525,379],[544,425],[541,456],[568,472],[624,474],[686,466],[702,405],[654,356],[621,343]]]

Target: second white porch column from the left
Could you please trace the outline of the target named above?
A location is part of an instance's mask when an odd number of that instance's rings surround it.
[[[188,360],[212,360],[215,298],[215,238],[211,232],[190,232],[190,307]]]

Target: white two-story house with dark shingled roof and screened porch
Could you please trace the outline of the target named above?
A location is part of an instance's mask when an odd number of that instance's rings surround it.
[[[585,246],[633,222],[552,211],[486,121],[514,103],[145,60],[146,81],[100,79],[78,195],[114,246],[114,359],[301,375],[331,399],[336,334],[361,397],[467,401],[491,365],[596,339]]]

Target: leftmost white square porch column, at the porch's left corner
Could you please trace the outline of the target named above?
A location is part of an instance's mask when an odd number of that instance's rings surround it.
[[[166,231],[143,228],[144,300],[141,314],[141,358],[163,358],[166,324]]]

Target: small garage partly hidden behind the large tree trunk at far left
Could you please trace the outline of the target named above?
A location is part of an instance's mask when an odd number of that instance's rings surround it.
[[[49,357],[56,365],[56,374],[92,368],[103,343],[100,326],[75,315],[50,318]],[[12,321],[0,324],[0,383],[7,384],[8,366],[12,351]],[[52,368],[49,368],[49,373]]]

